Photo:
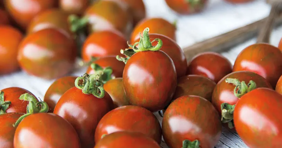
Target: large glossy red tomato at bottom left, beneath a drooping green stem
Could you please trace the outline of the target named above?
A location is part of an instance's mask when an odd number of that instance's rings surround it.
[[[14,148],[80,148],[75,129],[62,117],[37,113],[24,118],[14,136]]]

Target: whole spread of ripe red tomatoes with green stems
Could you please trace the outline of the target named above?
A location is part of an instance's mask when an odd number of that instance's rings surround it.
[[[282,147],[282,39],[234,65],[213,52],[187,63],[175,25],[145,18],[142,0],[3,2],[0,74],[55,81],[44,100],[0,91],[0,148],[213,148],[222,126],[250,148]],[[206,0],[166,3],[188,14]],[[78,56],[87,71],[67,76]]]

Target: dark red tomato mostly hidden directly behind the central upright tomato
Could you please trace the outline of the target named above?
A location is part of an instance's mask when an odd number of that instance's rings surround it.
[[[185,76],[188,68],[187,59],[179,45],[171,38],[161,34],[152,33],[149,34],[149,37],[151,42],[155,38],[159,38],[163,41],[163,46],[160,50],[165,52],[172,59],[176,69],[177,77],[179,78]],[[139,38],[134,41],[134,43],[136,42],[139,42]],[[158,42],[153,42],[153,46],[156,46],[157,43]]]

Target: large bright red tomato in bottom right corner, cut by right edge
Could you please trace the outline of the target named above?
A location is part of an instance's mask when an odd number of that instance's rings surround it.
[[[234,124],[250,148],[282,147],[282,95],[258,88],[243,95],[234,109]]]

